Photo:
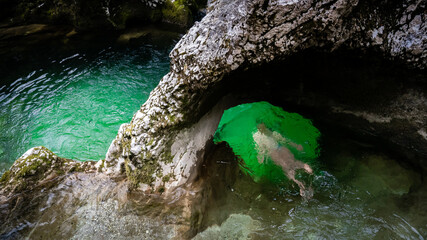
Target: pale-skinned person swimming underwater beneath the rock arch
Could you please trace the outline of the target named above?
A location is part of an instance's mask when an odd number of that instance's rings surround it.
[[[253,134],[253,138],[258,150],[258,162],[261,164],[270,156],[271,160],[282,168],[285,175],[299,186],[300,195],[311,198],[312,189],[306,189],[301,181],[295,179],[295,171],[304,169],[308,174],[313,174],[313,169],[307,163],[296,160],[292,152],[283,145],[294,147],[298,151],[304,150],[303,147],[287,140],[280,133],[269,130],[264,123],[258,124],[257,128],[258,131]]]

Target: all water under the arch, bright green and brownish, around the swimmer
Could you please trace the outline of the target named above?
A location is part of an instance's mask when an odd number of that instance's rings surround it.
[[[315,167],[312,175],[296,171],[296,179],[312,189],[311,198],[300,197],[291,181],[275,181],[283,173],[273,162],[259,162],[254,133],[261,131],[260,123],[294,143],[284,147]],[[424,239],[427,188],[422,174],[380,145],[349,139],[331,126],[321,132],[322,137],[310,120],[267,102],[226,110],[214,141],[227,142],[243,163],[214,157],[223,166],[210,168],[227,172],[238,164],[240,171],[234,181],[224,176],[214,180],[214,192],[221,194],[196,239]],[[271,141],[267,147],[280,148],[277,138]],[[296,144],[302,147],[297,150]],[[273,181],[259,181],[260,176]]]

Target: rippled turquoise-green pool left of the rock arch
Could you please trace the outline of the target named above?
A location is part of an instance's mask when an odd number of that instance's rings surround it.
[[[39,145],[61,157],[104,158],[119,126],[169,71],[172,45],[89,44],[40,46],[3,66],[0,173]]]

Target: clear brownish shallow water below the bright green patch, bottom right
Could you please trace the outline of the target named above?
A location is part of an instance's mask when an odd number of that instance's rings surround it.
[[[312,199],[295,184],[257,184],[240,173],[223,183],[196,239],[424,239],[422,175],[371,145],[326,135],[315,177],[297,176],[313,188]]]

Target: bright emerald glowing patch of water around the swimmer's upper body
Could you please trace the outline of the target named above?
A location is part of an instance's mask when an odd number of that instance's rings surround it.
[[[265,130],[259,129],[261,125]],[[227,142],[244,161],[242,171],[255,181],[267,179],[281,182],[286,180],[283,170],[267,152],[284,147],[296,160],[312,164],[319,155],[319,136],[320,132],[309,119],[297,113],[288,113],[268,102],[254,102],[224,111],[214,142]]]

